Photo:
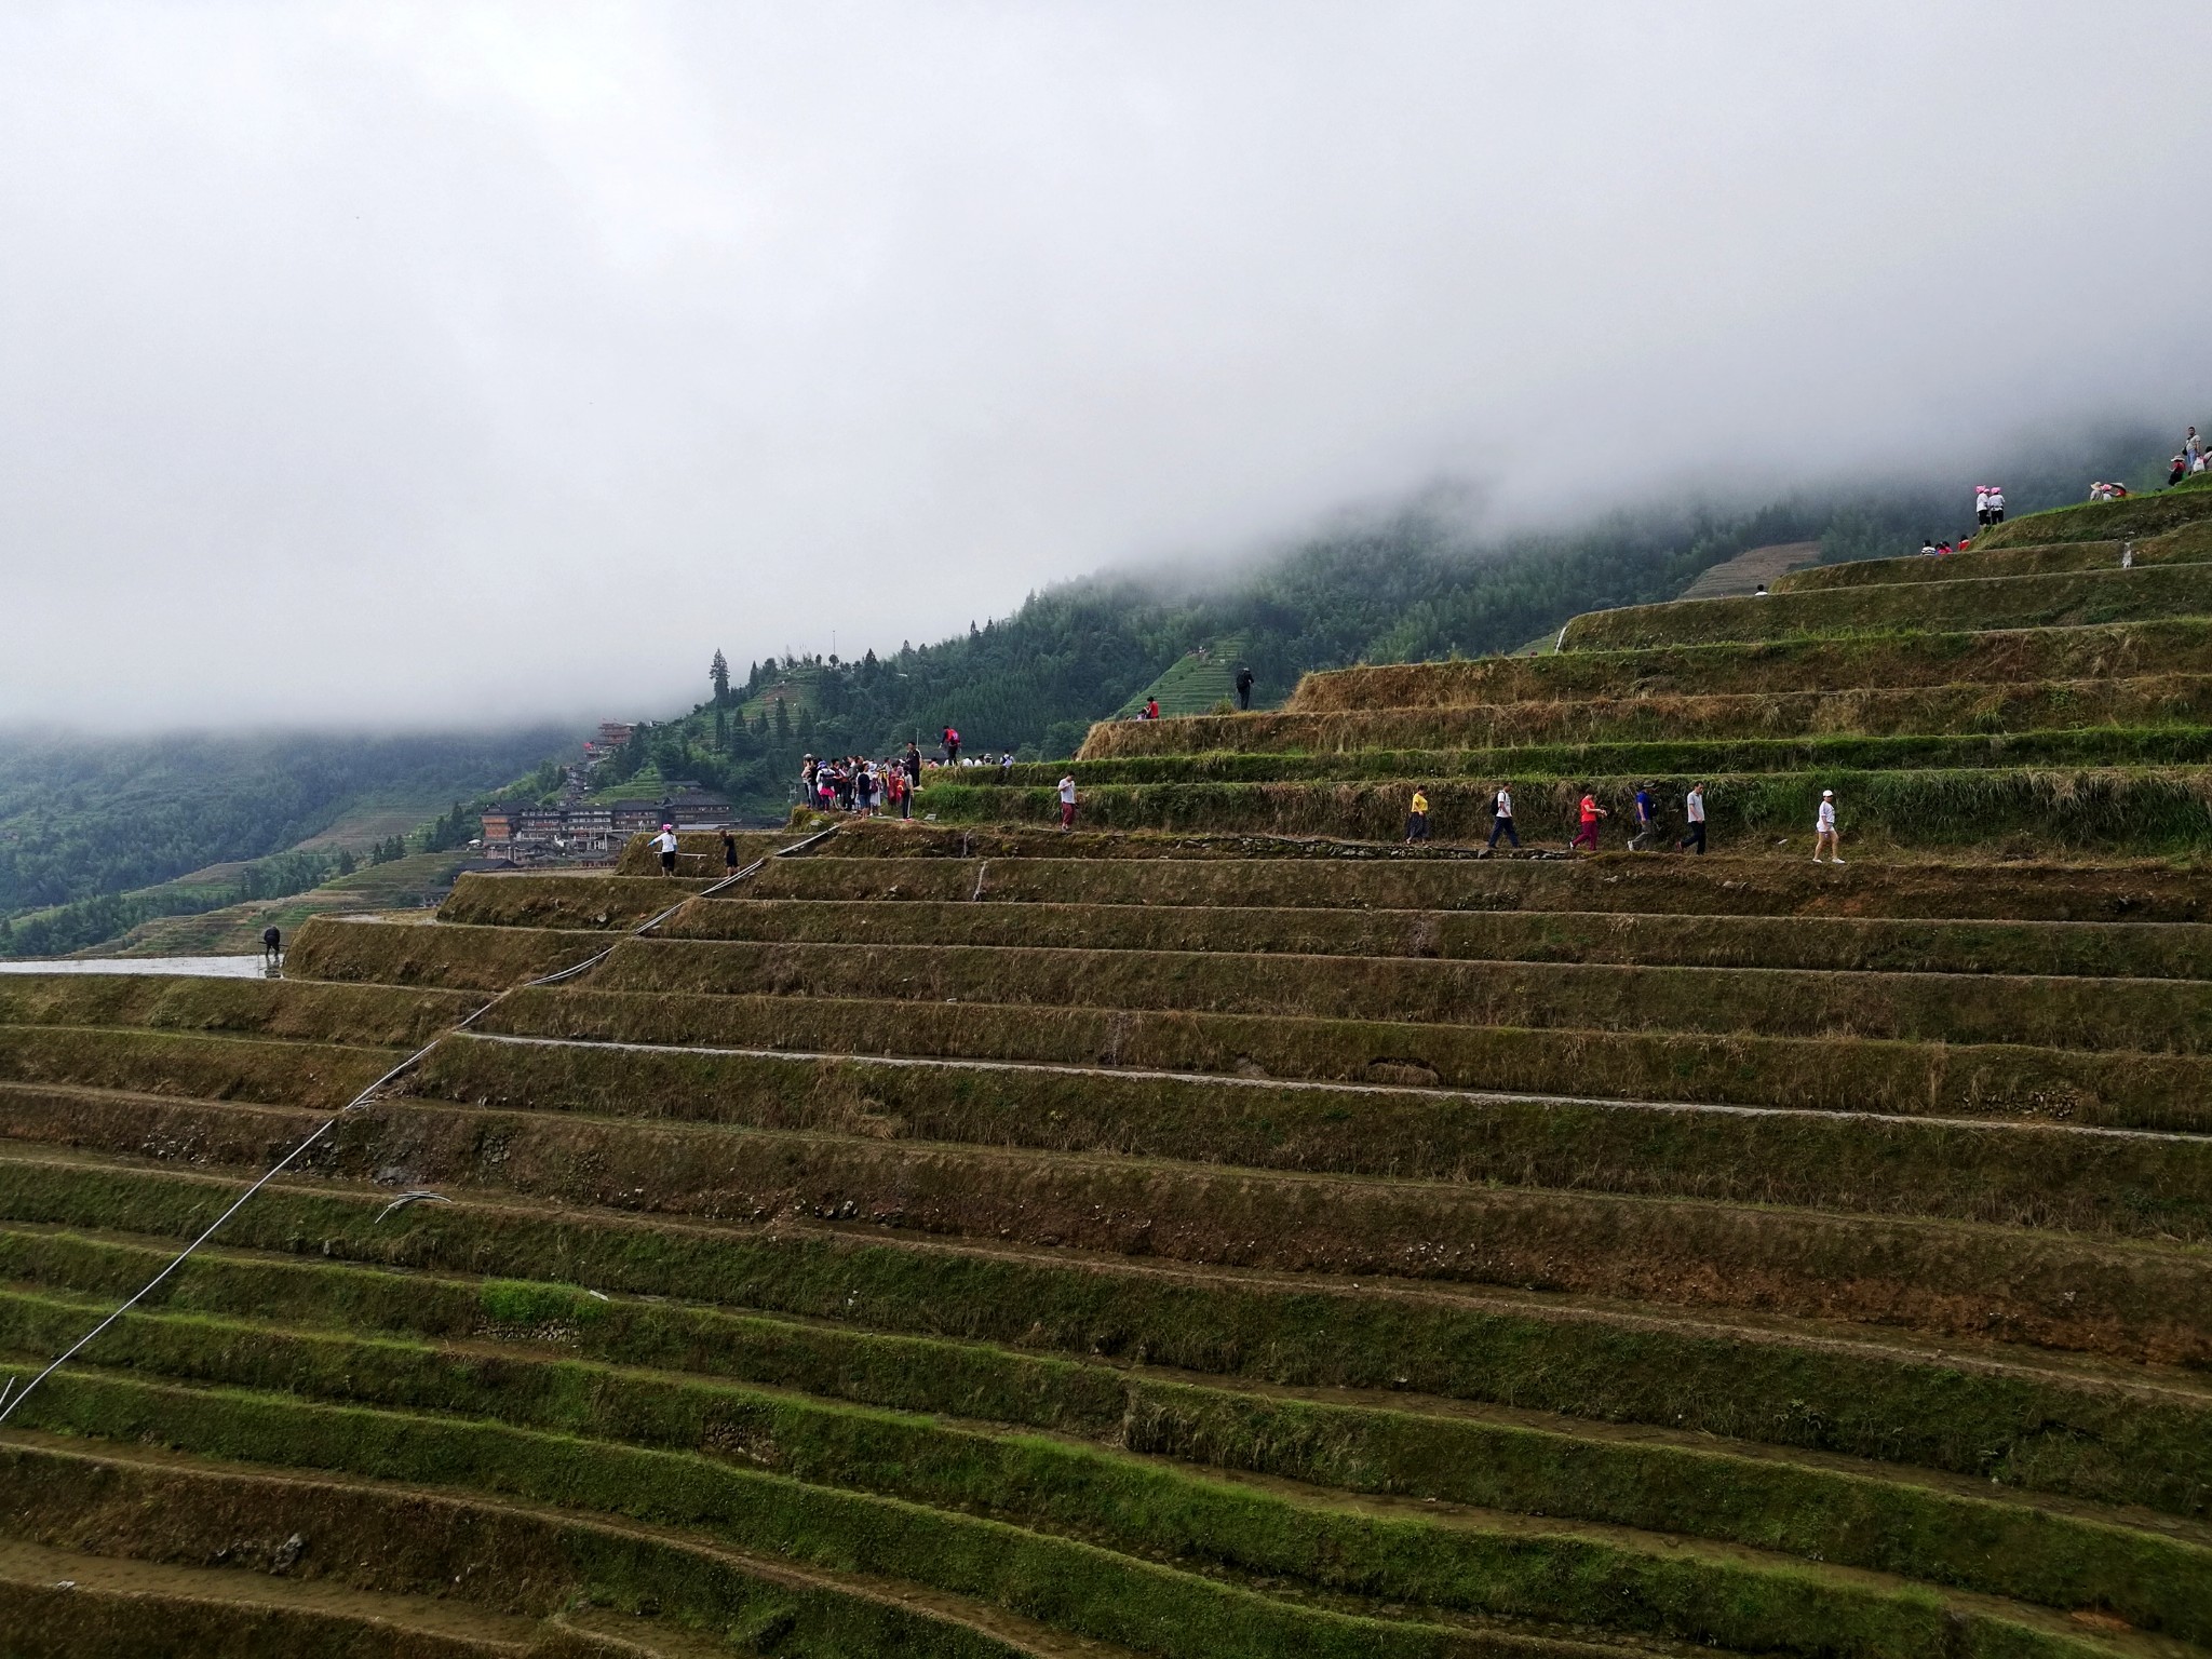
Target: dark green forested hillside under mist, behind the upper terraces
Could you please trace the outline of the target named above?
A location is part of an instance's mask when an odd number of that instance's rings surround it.
[[[2146,434],[2070,445],[2004,482],[2015,509],[2033,511],[2073,500],[2077,478],[2143,471],[2150,447]],[[752,664],[726,695],[641,730],[611,776],[695,779],[752,818],[779,818],[807,752],[883,754],[909,737],[933,748],[956,726],[969,752],[1073,754],[1091,721],[1197,646],[1241,639],[1270,703],[1312,668],[1511,650],[1579,611],[1670,599],[1705,566],[1770,542],[1818,540],[1827,560],[1893,555],[1971,531],[1969,507],[1971,487],[1891,487],[1500,540],[1409,511],[1210,582],[1091,577],[940,644]]]

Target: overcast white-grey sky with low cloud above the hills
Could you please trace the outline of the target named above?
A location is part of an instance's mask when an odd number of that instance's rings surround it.
[[[2172,4],[11,0],[0,714],[668,712],[1440,480],[2179,438],[2208,62]]]

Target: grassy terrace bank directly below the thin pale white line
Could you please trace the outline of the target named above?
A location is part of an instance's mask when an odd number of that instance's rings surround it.
[[[491,1110],[2212,1239],[2212,1148],[2048,1126],[467,1037],[409,1086]]]

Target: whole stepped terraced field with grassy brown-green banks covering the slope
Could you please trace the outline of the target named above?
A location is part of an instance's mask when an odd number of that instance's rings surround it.
[[[20,1398],[0,1652],[2212,1652],[2212,622],[1920,568],[0,982],[15,1387],[330,1124]],[[1772,763],[1475,856],[1588,750]]]

